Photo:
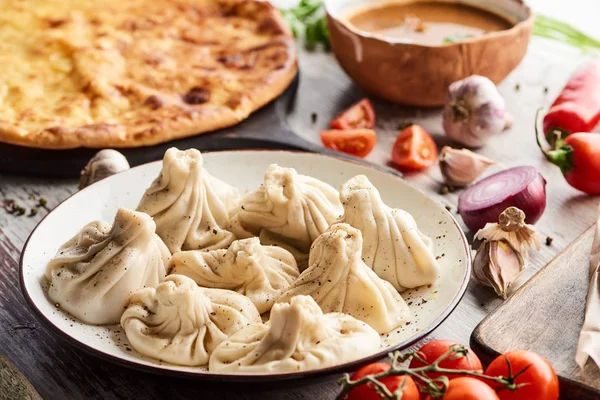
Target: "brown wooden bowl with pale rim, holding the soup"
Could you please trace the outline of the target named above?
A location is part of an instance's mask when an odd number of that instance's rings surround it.
[[[384,38],[346,22],[355,10],[390,0],[326,0],[331,47],[346,73],[366,91],[412,106],[444,104],[448,86],[470,75],[502,81],[523,59],[534,15],[522,0],[437,0],[463,3],[498,14],[512,28],[426,46]]]

